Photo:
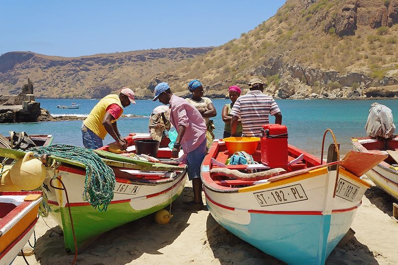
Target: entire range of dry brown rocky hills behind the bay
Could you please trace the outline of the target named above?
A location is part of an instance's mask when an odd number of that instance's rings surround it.
[[[287,0],[238,39],[211,48],[176,48],[79,58],[7,53],[0,57],[0,93],[29,77],[41,97],[100,97],[122,86],[151,96],[170,83],[187,94],[199,79],[206,94],[248,89],[253,76],[279,98],[398,96],[398,0]],[[203,55],[204,54],[204,55]]]

